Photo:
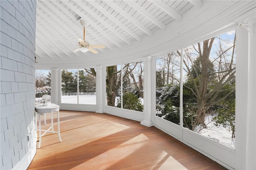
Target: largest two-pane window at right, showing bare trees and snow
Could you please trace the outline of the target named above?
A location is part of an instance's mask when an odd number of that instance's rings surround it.
[[[182,50],[156,58],[156,116],[234,148],[236,31]]]

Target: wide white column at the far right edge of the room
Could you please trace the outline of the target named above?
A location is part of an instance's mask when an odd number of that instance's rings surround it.
[[[256,169],[256,36],[245,28],[236,34],[235,169]]]

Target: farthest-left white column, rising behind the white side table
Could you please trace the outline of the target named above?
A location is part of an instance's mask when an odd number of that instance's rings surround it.
[[[57,68],[52,68],[51,69],[51,103],[55,103],[59,105],[59,88],[60,84],[58,83],[59,81],[59,76],[58,76],[58,69]]]

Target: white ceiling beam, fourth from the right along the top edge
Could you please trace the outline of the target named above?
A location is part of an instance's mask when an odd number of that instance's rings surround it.
[[[146,28],[144,25],[142,25],[140,22],[138,22],[135,18],[130,16],[130,14],[128,14],[127,12],[124,12],[124,10],[122,10],[114,2],[112,2],[112,1],[104,1],[104,2],[106,4],[108,4],[108,6],[110,6],[113,10],[115,10],[120,15],[122,15],[124,18],[126,18],[127,20],[132,22],[134,25],[136,25],[138,28],[140,28],[140,30],[142,30],[144,33],[148,34],[148,36],[152,36],[153,35],[152,32],[150,30],[148,30],[148,28]]]

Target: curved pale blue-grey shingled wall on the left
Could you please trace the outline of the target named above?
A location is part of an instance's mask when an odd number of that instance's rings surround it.
[[[0,169],[10,170],[36,145],[36,0],[0,0],[0,10]]]

